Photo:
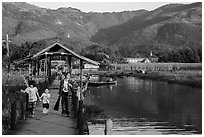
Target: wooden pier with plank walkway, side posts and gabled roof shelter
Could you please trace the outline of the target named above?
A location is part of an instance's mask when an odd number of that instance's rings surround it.
[[[79,60],[79,86],[80,86],[80,98],[77,99],[78,103],[73,104],[73,115],[72,118],[64,117],[61,115],[61,111],[55,112],[53,110],[53,103],[56,102],[58,98],[59,90],[56,87],[59,86],[59,81],[54,80],[52,82],[52,77],[56,75],[52,73],[51,70],[51,60],[53,56],[64,56],[65,62],[67,64],[66,72],[72,73],[72,58],[76,58]],[[13,101],[11,103],[11,124],[10,130],[5,134],[8,135],[71,135],[71,134],[84,134],[84,108],[83,108],[83,83],[82,83],[82,75],[83,75],[83,62],[89,62],[94,65],[99,65],[98,62],[90,60],[86,57],[78,55],[67,47],[63,46],[59,43],[54,43],[47,48],[41,50],[40,52],[30,55],[29,57],[15,61],[15,64],[27,63],[29,64],[29,76],[28,78],[31,80],[37,79],[37,84],[41,88],[41,93],[44,91],[44,88],[47,85],[38,83],[38,79],[42,79],[40,74],[44,74],[44,81],[46,84],[51,84],[51,104],[50,104],[50,112],[49,115],[42,115],[42,105],[38,103],[35,118],[27,118],[23,121],[16,121],[16,103]],[[43,68],[43,69],[42,69]],[[42,72],[42,70],[44,72]],[[27,84],[28,86],[28,84]],[[20,89],[18,89],[20,91]],[[19,92],[15,91],[14,92]],[[76,95],[75,95],[76,96]],[[75,99],[75,98],[74,98]],[[76,101],[76,100],[75,100]],[[24,107],[25,108],[25,105]],[[22,113],[26,113],[26,109],[23,109]],[[21,114],[20,114],[21,115]],[[9,121],[9,120],[8,120]],[[18,123],[18,124],[17,124]],[[13,125],[12,125],[13,124]],[[3,133],[4,134],[4,133]]]

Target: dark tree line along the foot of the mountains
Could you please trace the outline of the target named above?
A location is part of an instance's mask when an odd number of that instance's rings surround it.
[[[29,54],[33,55],[45,48],[46,43],[41,42],[26,42],[21,46],[10,44],[10,60],[22,59]],[[68,47],[70,48],[70,47]],[[2,47],[3,57],[6,55],[6,46]],[[118,62],[127,57],[141,57],[149,56],[150,51],[138,51],[133,47],[123,47],[116,51],[112,51],[109,47],[101,45],[91,45],[83,48],[80,52],[81,55],[92,60],[108,64],[110,62]],[[160,50],[155,54],[159,58],[159,62],[179,62],[179,63],[198,63],[202,62],[202,48],[198,47],[183,47],[172,50]]]

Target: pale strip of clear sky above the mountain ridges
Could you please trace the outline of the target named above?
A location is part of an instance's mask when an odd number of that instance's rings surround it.
[[[171,0],[172,1],[172,0]],[[121,11],[132,11],[132,10],[140,10],[140,9],[146,9],[146,10],[154,10],[160,6],[169,4],[170,2],[137,2],[137,1],[130,1],[130,2],[124,2],[124,1],[112,1],[112,2],[28,2],[30,4],[43,7],[43,8],[49,8],[49,9],[58,9],[60,7],[72,7],[80,9],[83,12],[121,12]],[[178,3],[174,2],[173,3]],[[185,2],[179,2],[179,3],[185,3]]]

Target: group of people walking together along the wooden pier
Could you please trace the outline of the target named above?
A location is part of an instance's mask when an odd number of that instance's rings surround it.
[[[69,72],[63,72],[60,76],[60,86],[59,86],[59,97],[55,103],[54,110],[59,110],[59,105],[61,103],[62,112],[61,114],[67,117],[71,117],[72,109],[76,110],[78,107],[78,101],[82,98],[81,94],[88,87],[89,78],[87,78],[85,83],[82,83],[82,88],[76,80],[70,79],[71,74]],[[33,83],[29,83],[29,87],[21,92],[28,94],[28,112],[30,117],[34,117],[34,109],[36,107],[37,99],[42,102],[43,114],[48,114],[49,103],[50,103],[50,94],[49,89],[46,88],[44,93],[40,96],[38,89]],[[74,116],[76,116],[76,112]]]

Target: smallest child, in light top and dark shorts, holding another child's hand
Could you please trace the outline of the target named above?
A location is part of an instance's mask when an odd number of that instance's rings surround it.
[[[43,114],[47,115],[49,111],[49,103],[50,103],[50,93],[49,90],[46,88],[45,93],[43,93],[40,97],[43,101]]]

